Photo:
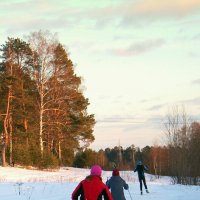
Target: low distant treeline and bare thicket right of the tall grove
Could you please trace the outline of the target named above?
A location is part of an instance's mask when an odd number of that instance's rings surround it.
[[[105,170],[112,170],[116,164],[120,170],[133,170],[142,160],[155,177],[171,176],[174,183],[200,185],[200,124],[187,126],[170,118],[167,123],[166,146],[146,146],[142,149],[131,145],[123,149],[116,146],[98,152],[85,149],[76,154],[73,165],[88,167],[100,164]]]

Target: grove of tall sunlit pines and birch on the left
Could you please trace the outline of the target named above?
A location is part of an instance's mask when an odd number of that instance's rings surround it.
[[[65,47],[38,31],[27,41],[8,38],[0,52],[2,165],[71,164],[74,152],[94,140],[95,119]]]

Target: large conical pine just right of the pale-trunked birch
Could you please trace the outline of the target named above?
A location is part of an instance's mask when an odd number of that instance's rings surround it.
[[[55,49],[54,58],[54,73],[50,80],[54,108],[49,109],[48,122],[51,123],[47,124],[53,125],[51,137],[61,161],[64,159],[62,150],[79,148],[80,141],[87,146],[94,140],[95,120],[94,115],[87,114],[89,103],[80,90],[81,78],[74,73],[73,63],[61,44]]]

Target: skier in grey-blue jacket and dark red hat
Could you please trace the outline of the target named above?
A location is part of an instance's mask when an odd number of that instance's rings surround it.
[[[114,169],[112,177],[106,182],[106,185],[111,189],[113,200],[126,200],[124,189],[128,190],[129,186],[119,175],[118,169]]]

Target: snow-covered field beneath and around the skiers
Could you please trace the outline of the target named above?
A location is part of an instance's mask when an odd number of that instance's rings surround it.
[[[62,168],[47,172],[21,168],[0,167],[0,200],[70,200],[71,193],[79,181],[89,175],[89,169]],[[127,200],[198,200],[199,186],[171,184],[170,178],[146,174],[150,193],[140,195],[137,174],[120,172],[129,184],[125,191]],[[111,176],[110,171],[103,171],[105,182]]]

